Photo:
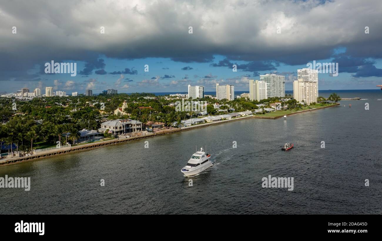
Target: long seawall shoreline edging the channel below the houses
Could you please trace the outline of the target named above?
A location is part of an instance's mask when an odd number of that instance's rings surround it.
[[[307,110],[302,110],[302,111],[296,111],[293,113],[285,114],[285,116],[299,114],[299,113],[303,113],[303,112],[307,112],[307,111],[314,111],[314,110],[318,110],[318,109],[324,109],[324,108],[338,106],[338,105],[339,105],[339,103],[336,103],[336,104],[333,104],[330,106],[322,106],[320,108],[312,108],[312,109],[307,109]],[[95,143],[82,144],[82,145],[78,145],[78,146],[57,148],[59,150],[52,149],[49,151],[45,151],[44,153],[39,153],[39,154],[31,155],[31,156],[12,157],[12,158],[8,158],[8,159],[5,158],[4,160],[0,160],[0,166],[12,165],[12,164],[17,164],[17,163],[26,162],[26,161],[34,161],[36,159],[43,159],[43,158],[53,156],[53,155],[60,155],[60,154],[71,153],[71,152],[76,152],[76,151],[81,151],[81,150],[86,150],[86,149],[94,149],[94,148],[99,148],[99,147],[106,146],[106,145],[124,143],[126,141],[133,141],[133,140],[138,140],[138,139],[143,139],[143,138],[150,138],[150,137],[156,137],[156,136],[160,136],[160,135],[166,135],[166,134],[170,134],[170,133],[174,133],[174,132],[182,132],[182,131],[192,130],[192,129],[196,129],[196,128],[208,127],[210,125],[219,125],[219,124],[223,124],[225,122],[231,122],[231,121],[236,121],[236,120],[243,120],[243,119],[249,119],[249,118],[278,119],[278,118],[281,118],[283,116],[284,116],[284,114],[282,114],[281,116],[274,116],[274,117],[256,116],[256,115],[243,116],[243,117],[236,117],[234,119],[229,119],[229,120],[219,120],[216,122],[209,122],[209,123],[204,123],[204,124],[199,124],[199,125],[191,125],[189,127],[181,127],[181,128],[177,128],[175,130],[168,130],[167,132],[162,132],[159,134],[151,133],[148,135],[142,135],[142,136],[138,136],[138,137],[115,138],[112,140],[99,141],[99,142],[95,142]]]

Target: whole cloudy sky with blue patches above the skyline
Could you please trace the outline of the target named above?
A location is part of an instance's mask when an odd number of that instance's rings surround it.
[[[319,74],[320,90],[375,89],[381,13],[380,0],[2,1],[0,92],[244,91],[266,73],[285,75],[291,90],[314,60],[338,63],[337,77]],[[77,63],[77,75],[46,74],[52,60]]]

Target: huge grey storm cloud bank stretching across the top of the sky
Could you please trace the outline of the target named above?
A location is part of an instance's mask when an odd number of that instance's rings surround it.
[[[346,48],[353,58],[377,59],[382,58],[381,12],[380,0],[3,1],[0,79],[37,79],[26,72],[52,59],[84,61],[79,74],[88,76],[105,69],[102,56],[211,63],[214,55],[221,55],[228,63],[248,62],[238,69],[254,75],[275,70],[278,63],[329,59],[337,47]],[[251,21],[243,16],[251,16]],[[18,27],[17,34],[10,26]],[[100,26],[105,26],[105,34],[100,34]],[[366,68],[378,74],[377,68]],[[136,74],[132,69],[112,73]]]

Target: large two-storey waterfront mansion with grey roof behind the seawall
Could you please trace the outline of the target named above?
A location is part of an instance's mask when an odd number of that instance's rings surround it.
[[[104,123],[101,123],[101,128],[98,129],[99,132],[105,133],[109,129],[113,134],[123,134],[130,132],[138,132],[142,130],[142,122],[138,120],[131,119],[117,119],[117,120],[108,120]]]

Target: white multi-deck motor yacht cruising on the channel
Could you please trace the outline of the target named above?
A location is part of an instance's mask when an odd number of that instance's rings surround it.
[[[210,161],[210,158],[211,158],[211,155],[207,154],[203,150],[203,148],[200,148],[200,151],[197,151],[191,156],[191,158],[187,162],[187,165],[183,167],[181,172],[186,177],[201,173],[212,166],[212,162]]]

